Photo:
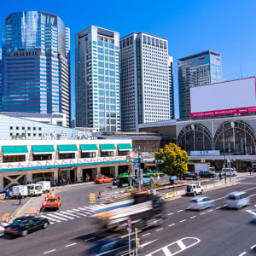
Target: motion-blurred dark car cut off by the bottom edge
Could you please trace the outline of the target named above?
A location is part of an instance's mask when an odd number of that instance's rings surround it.
[[[136,243],[131,241],[131,252],[135,252]],[[128,239],[107,239],[98,241],[93,247],[84,253],[88,256],[110,256],[110,255],[129,255],[129,241]],[[132,254],[133,255],[133,254]]]

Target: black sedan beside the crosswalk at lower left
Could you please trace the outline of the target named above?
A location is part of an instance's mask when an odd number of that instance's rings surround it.
[[[6,226],[4,228],[4,234],[9,236],[26,236],[35,230],[46,229],[48,225],[48,218],[22,216],[15,218],[12,224]]]

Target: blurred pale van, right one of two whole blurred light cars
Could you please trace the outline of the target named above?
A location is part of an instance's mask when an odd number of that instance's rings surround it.
[[[240,209],[250,205],[250,198],[244,191],[231,192],[226,197],[226,205],[228,208]]]

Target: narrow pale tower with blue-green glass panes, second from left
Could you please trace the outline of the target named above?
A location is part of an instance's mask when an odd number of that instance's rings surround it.
[[[75,36],[76,126],[120,131],[119,32],[89,26]]]

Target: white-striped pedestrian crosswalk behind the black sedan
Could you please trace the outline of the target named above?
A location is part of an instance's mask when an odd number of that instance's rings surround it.
[[[58,211],[58,212],[44,212],[41,214],[41,217],[48,218],[50,224],[56,223],[64,223],[75,218],[84,218],[89,217],[91,214],[95,213],[97,209],[104,206],[104,204],[96,204],[91,205],[88,207],[77,207],[65,211]],[[9,223],[1,223],[0,224],[0,233],[4,230],[4,227]]]

